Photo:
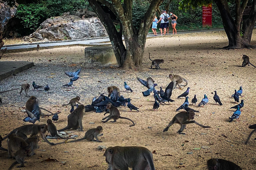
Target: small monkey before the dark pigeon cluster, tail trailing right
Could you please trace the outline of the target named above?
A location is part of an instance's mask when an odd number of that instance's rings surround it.
[[[119,110],[115,106],[113,106],[110,102],[107,104],[107,109],[109,109],[109,112],[106,112],[106,113],[109,113],[109,115],[102,119],[102,120],[105,120],[105,119],[107,119],[107,120],[106,121],[101,121],[101,122],[106,123],[110,119],[113,119],[114,121],[110,121],[110,122],[114,123],[114,122],[116,122],[117,119],[120,118],[120,119],[127,119],[127,120],[131,121],[133,123],[133,125],[130,125],[130,127],[135,126],[134,122],[131,119],[121,117]]]

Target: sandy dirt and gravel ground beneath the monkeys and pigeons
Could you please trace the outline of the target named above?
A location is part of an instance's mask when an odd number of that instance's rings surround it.
[[[252,44],[256,44],[256,30],[253,32]],[[129,108],[120,107],[123,117],[128,117],[135,122],[134,127],[129,127],[128,120],[117,120],[116,123],[101,123],[103,113],[88,112],[83,119],[83,128],[103,127],[103,136],[99,137],[102,143],[97,142],[74,142],[51,146],[39,141],[40,148],[36,150],[36,155],[26,157],[27,163],[24,168],[13,169],[107,169],[107,163],[103,156],[104,150],[98,151],[99,145],[109,146],[144,146],[150,151],[155,150],[154,165],[157,170],[171,170],[178,166],[181,169],[206,170],[208,159],[222,158],[230,160],[243,170],[253,170],[256,167],[256,134],[253,134],[247,145],[244,144],[251,130],[249,125],[255,124],[256,118],[256,69],[252,66],[241,67],[242,54],[250,56],[252,63],[256,64],[255,49],[235,49],[223,50],[221,47],[228,44],[225,32],[197,33],[176,35],[173,37],[161,37],[148,39],[146,42],[143,66],[140,69],[122,70],[117,65],[90,65],[84,64],[84,47],[72,46],[53,49],[40,49],[39,51],[28,51],[21,53],[7,53],[1,61],[33,61],[35,66],[25,70],[15,76],[9,76],[0,80],[0,91],[10,89],[10,86],[17,83],[35,81],[38,85],[49,84],[51,90],[49,94],[44,91],[29,90],[29,95],[38,98],[40,106],[50,109],[52,112],[60,110],[59,121],[54,123],[57,129],[67,125],[67,116],[70,114],[70,107],[61,107],[76,95],[81,96],[81,102],[90,104],[98,92],[106,92],[107,87],[116,85],[120,88],[124,97],[130,97],[131,103],[139,107],[140,112],[129,112]],[[162,69],[151,70],[148,52],[151,58],[161,58],[165,62],[160,65]],[[51,61],[49,61],[51,60]],[[69,77],[64,71],[72,71],[82,66],[80,78],[74,82],[74,89],[61,88],[69,81]],[[54,74],[51,74],[54,73]],[[187,125],[184,130],[185,135],[180,135],[176,131],[179,125],[173,125],[167,132],[163,129],[173,118],[175,110],[184,102],[184,98],[177,99],[183,90],[175,89],[172,99],[175,102],[170,105],[160,105],[158,111],[154,111],[153,95],[142,96],[142,91],[146,88],[136,79],[140,77],[146,79],[151,76],[163,89],[166,88],[170,80],[169,73],[179,74],[188,81],[189,102],[196,94],[200,102],[203,95],[209,98],[209,104],[204,107],[189,107],[199,110],[195,120],[203,125],[212,128],[201,128],[195,124]],[[124,81],[134,90],[133,93],[124,92]],[[228,118],[235,111],[229,109],[234,106],[234,99],[231,95],[235,89],[243,87],[243,97],[245,106],[242,108],[240,121],[228,122]],[[217,93],[223,106],[215,105],[212,92]],[[26,125],[22,121],[25,113],[22,107],[28,98],[18,91],[3,93],[3,104],[0,104],[0,134],[5,136],[12,129]],[[139,98],[139,99],[138,99]],[[40,124],[46,123],[47,118],[40,119]],[[89,124],[93,122],[95,124]],[[38,122],[36,124],[39,124]],[[70,130],[71,134],[76,134],[81,138],[85,132]],[[48,133],[47,133],[48,134]],[[226,136],[226,137],[225,137]],[[51,142],[61,142],[63,139],[52,139]],[[7,148],[7,141],[2,142]],[[207,146],[203,149],[201,146]],[[187,154],[193,152],[192,154]],[[171,156],[164,156],[170,154]],[[56,162],[41,162],[47,158],[56,159]],[[0,151],[0,169],[7,169],[14,160],[7,159],[7,152]]]

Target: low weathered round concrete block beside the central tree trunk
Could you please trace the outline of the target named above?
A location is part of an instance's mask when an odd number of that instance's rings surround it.
[[[86,63],[116,64],[117,60],[112,46],[86,47]]]

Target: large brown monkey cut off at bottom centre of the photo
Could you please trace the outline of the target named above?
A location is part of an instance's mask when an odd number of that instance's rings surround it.
[[[145,147],[114,146],[104,153],[108,170],[155,170],[153,154]]]

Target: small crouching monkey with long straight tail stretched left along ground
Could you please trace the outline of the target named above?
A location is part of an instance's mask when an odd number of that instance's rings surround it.
[[[60,143],[56,143],[56,145],[57,145],[57,144],[62,144],[62,143],[78,142],[78,141],[84,140],[84,139],[86,139],[86,140],[88,140],[88,141],[102,142],[102,141],[100,141],[100,140],[98,139],[98,136],[102,136],[102,135],[103,135],[103,134],[101,133],[102,130],[103,130],[103,128],[102,128],[101,126],[98,126],[97,128],[91,128],[91,129],[89,129],[89,130],[87,130],[87,131],[85,132],[84,137],[81,138],[81,139],[76,139],[76,140],[72,140],[72,141],[68,141],[68,142],[60,142]],[[101,134],[100,134],[100,133],[101,133]],[[95,138],[96,140],[95,140],[94,138]]]

